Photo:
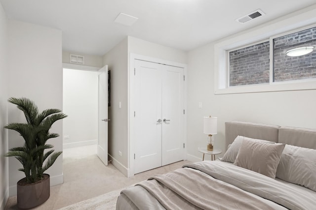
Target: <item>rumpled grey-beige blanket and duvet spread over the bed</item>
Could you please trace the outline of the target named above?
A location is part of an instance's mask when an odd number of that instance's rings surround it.
[[[138,209],[308,210],[316,206],[314,191],[294,194],[295,189],[282,182],[221,161],[187,164],[136,188],[137,192],[130,188],[121,193]]]

